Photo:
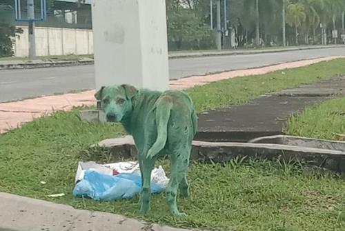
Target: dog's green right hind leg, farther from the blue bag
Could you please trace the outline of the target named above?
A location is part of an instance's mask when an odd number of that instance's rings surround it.
[[[181,183],[182,192],[184,195],[188,194],[188,183],[186,181],[186,171],[189,164],[189,154],[181,153],[188,152],[187,148],[178,150],[179,153],[171,154],[171,176],[166,188],[167,202],[170,209],[170,212],[175,215],[186,215],[183,212],[179,212],[177,209],[177,188]]]

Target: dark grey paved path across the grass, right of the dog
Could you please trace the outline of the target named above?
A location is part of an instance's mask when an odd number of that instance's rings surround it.
[[[326,99],[345,95],[345,77],[302,85],[265,95],[248,104],[210,110],[199,115],[199,141],[246,142],[283,134],[291,114]]]

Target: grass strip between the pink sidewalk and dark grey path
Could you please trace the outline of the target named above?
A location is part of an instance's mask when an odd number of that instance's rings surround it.
[[[257,76],[237,77],[197,86],[187,92],[193,98],[197,110],[202,111],[231,104],[247,103],[261,94],[331,79],[339,74],[345,74],[345,59],[324,61],[311,66]]]

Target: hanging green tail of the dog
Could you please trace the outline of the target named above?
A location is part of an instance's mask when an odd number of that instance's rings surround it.
[[[150,150],[148,150],[147,157],[152,159],[155,157],[166,145],[168,139],[168,121],[170,118],[170,110],[172,103],[167,101],[161,101],[157,103],[156,108],[156,121],[157,121],[157,139],[153,143]]]

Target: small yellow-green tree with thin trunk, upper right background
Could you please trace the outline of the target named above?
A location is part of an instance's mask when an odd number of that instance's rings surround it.
[[[290,3],[286,10],[286,23],[295,26],[295,43],[298,45],[298,27],[306,21],[306,13],[302,3]]]

